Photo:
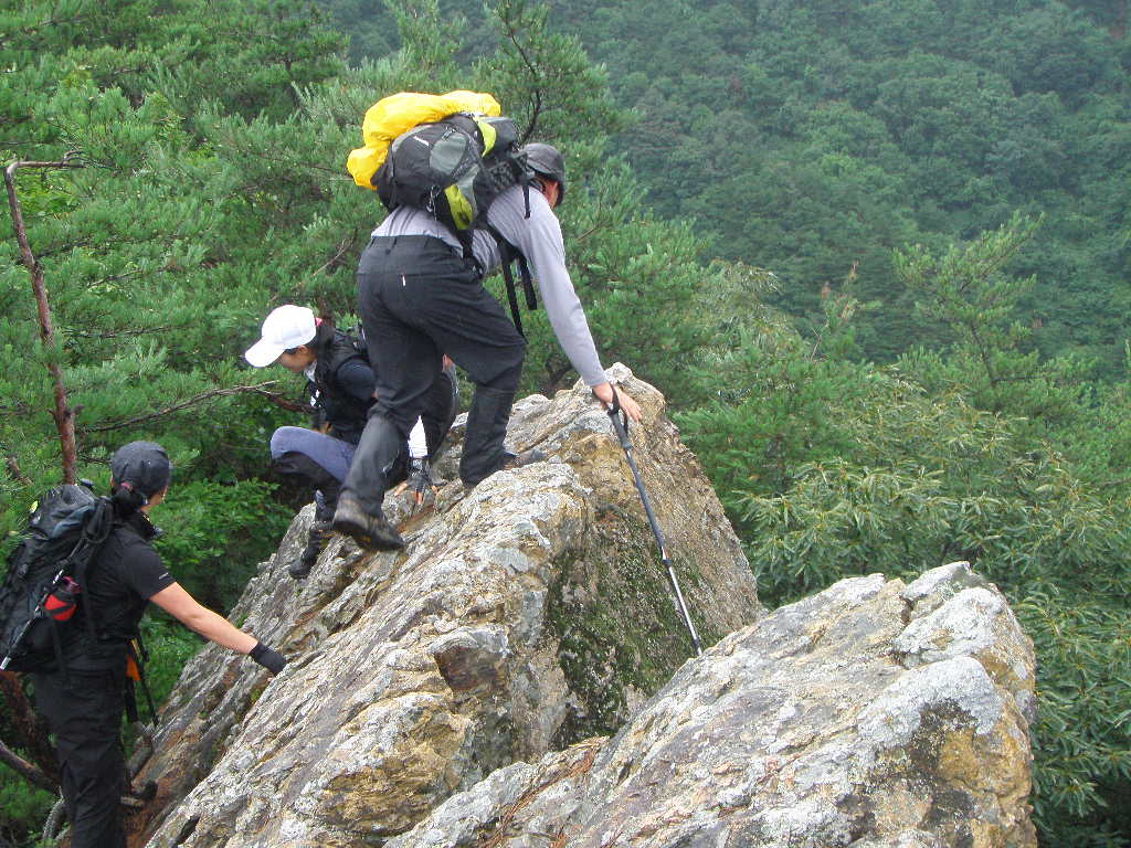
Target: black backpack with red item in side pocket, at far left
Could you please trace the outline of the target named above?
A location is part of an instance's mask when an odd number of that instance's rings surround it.
[[[61,629],[71,626],[87,566],[113,526],[110,499],[96,496],[87,481],[40,499],[0,586],[0,670],[62,666]],[[93,635],[90,611],[83,617]]]

